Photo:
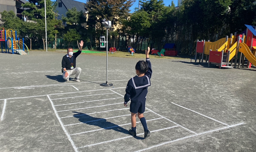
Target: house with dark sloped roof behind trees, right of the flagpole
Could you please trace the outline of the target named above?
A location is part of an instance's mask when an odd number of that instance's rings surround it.
[[[58,3],[58,5],[55,8],[56,13],[58,13],[57,19],[62,20],[62,16],[66,17],[66,12],[68,9],[76,8],[77,11],[82,11],[84,14],[84,17],[86,17],[86,21],[88,19],[88,11],[86,9],[85,3],[77,2],[75,0],[56,0],[55,3]],[[63,22],[63,25],[66,25],[65,22]],[[86,23],[82,24],[83,27],[86,27]]]

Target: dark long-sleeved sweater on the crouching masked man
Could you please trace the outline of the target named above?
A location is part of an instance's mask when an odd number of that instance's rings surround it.
[[[66,70],[71,69],[71,62],[73,63],[73,67],[76,68],[76,57],[81,54],[82,51],[78,50],[77,52],[73,53],[71,57],[68,54],[64,55],[62,58],[62,68],[66,68]]]

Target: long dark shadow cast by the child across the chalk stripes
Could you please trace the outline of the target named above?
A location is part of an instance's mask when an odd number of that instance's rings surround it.
[[[112,129],[112,130],[118,131],[120,133],[130,135],[128,130],[126,130],[123,127],[120,127],[120,126],[116,125],[115,123],[108,122],[106,119],[92,117],[92,116],[89,116],[89,115],[84,114],[82,112],[76,112],[76,111],[72,111],[72,112],[76,113],[76,114],[74,114],[74,117],[78,118],[78,120],[80,122],[86,123],[87,125],[95,125],[95,126],[98,126],[100,128],[106,129],[106,130]],[[141,137],[138,137],[138,136],[136,136],[134,138],[144,139],[144,138],[141,138]]]

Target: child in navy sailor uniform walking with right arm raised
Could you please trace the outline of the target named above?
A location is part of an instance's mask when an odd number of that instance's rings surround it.
[[[144,138],[150,136],[150,132],[147,129],[147,122],[143,116],[145,112],[145,103],[147,95],[147,87],[151,86],[150,78],[152,75],[151,62],[149,61],[149,51],[150,48],[147,47],[145,51],[146,62],[141,60],[136,63],[135,70],[137,76],[134,76],[128,81],[125,89],[125,102],[124,105],[127,106],[128,101],[131,99],[130,112],[131,112],[131,129],[129,133],[132,136],[136,136],[136,115],[138,113],[138,118],[144,128]]]

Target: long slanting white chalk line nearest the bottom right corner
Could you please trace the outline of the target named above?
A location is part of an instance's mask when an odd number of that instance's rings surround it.
[[[135,152],[142,152],[142,151],[149,150],[149,149],[159,147],[159,146],[162,146],[162,145],[165,145],[165,144],[169,144],[169,143],[172,143],[172,142],[180,141],[180,140],[195,137],[195,136],[204,135],[204,134],[207,134],[207,133],[212,133],[214,131],[224,130],[224,129],[235,127],[235,126],[242,125],[242,124],[244,124],[244,123],[237,123],[235,125],[229,125],[227,127],[223,127],[223,128],[219,128],[219,129],[215,129],[215,130],[210,130],[210,131],[205,131],[203,133],[198,133],[198,134],[195,134],[195,135],[185,136],[183,138],[178,138],[178,139],[175,139],[175,140],[172,140],[172,141],[167,141],[167,142],[164,142],[164,143],[161,143],[161,144],[158,144],[158,145],[155,145],[155,146],[151,146],[151,147],[148,147],[148,148],[145,148],[145,149],[141,149],[141,150],[138,150],[138,151],[135,151]],[[80,148],[80,147],[78,147],[78,148]]]

